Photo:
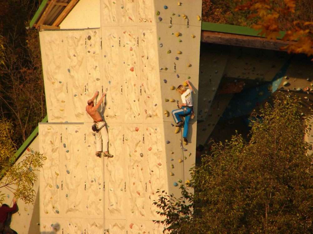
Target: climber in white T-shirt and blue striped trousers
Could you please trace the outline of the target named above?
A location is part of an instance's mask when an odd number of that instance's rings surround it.
[[[172,111],[172,115],[174,117],[175,122],[177,123],[176,127],[181,127],[184,125],[184,132],[182,137],[184,142],[188,142],[187,140],[187,133],[188,133],[188,123],[193,113],[193,106],[192,106],[192,92],[193,88],[191,87],[188,80],[186,80],[189,89],[186,89],[184,86],[180,85],[177,87],[177,91],[181,94],[182,97],[182,104],[178,104],[180,109],[176,109]],[[178,102],[178,101],[177,101]],[[185,116],[185,122],[181,119],[180,116]]]

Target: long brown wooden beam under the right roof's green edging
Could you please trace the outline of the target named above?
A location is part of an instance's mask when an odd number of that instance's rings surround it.
[[[250,48],[278,50],[283,46],[295,43],[282,40],[269,40],[264,37],[253,37],[224,32],[202,31],[201,41],[213,44],[242,46]]]

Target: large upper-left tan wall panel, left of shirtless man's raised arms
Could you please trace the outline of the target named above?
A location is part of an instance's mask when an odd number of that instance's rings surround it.
[[[101,93],[100,31],[44,31],[42,47],[48,120],[92,122],[86,102]],[[90,39],[90,40],[89,40]]]

